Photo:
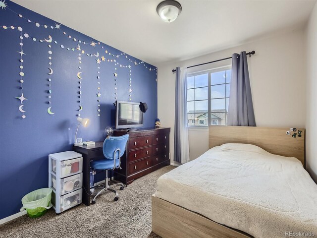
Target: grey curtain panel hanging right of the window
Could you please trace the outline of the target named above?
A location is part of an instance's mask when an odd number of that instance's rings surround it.
[[[256,126],[245,51],[232,55],[227,125]]]

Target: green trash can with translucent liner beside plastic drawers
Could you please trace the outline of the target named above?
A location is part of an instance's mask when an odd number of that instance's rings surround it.
[[[20,211],[26,209],[29,217],[36,218],[43,216],[48,209],[52,207],[52,189],[41,188],[26,194],[22,198],[23,207]]]

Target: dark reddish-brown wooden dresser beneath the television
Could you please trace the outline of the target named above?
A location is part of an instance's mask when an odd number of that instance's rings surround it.
[[[114,171],[114,179],[128,185],[134,179],[169,165],[169,132],[170,128],[166,127],[114,131],[114,136],[130,135],[127,149],[121,157],[122,170]]]

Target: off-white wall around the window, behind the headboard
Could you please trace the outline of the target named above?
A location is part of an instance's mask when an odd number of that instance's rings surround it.
[[[306,68],[304,30],[271,36],[231,49],[180,62],[158,65],[158,115],[171,127],[173,162],[176,66],[190,66],[218,60],[241,51],[255,50],[248,58],[255,118],[258,126],[304,127],[306,124]],[[194,43],[193,43],[194,44]],[[231,64],[231,60],[191,68],[199,71]],[[208,150],[208,130],[189,131],[191,160]]]

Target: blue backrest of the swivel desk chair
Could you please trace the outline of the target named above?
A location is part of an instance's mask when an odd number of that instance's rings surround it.
[[[129,139],[129,135],[121,135],[121,136],[108,136],[104,141],[103,152],[104,156],[108,160],[113,160],[114,151],[116,149],[120,149],[120,157],[124,154],[125,147],[127,141]],[[118,153],[115,154],[115,158],[119,159]]]

